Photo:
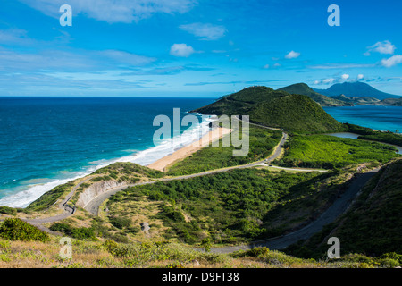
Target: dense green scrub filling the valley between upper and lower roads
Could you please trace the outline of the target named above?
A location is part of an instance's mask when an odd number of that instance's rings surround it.
[[[311,219],[320,208],[336,198],[339,185],[333,183],[330,188],[325,182],[337,175],[336,172],[239,169],[130,188],[111,197],[108,207],[111,215],[121,216],[119,204],[145,195],[150,200],[163,202],[156,218],[162,218],[169,226],[166,238],[179,238],[186,243],[200,243],[205,238],[210,238],[213,243],[239,243],[276,234],[272,231],[277,229],[272,230],[266,223],[270,211],[276,206],[302,202],[296,204],[299,207],[297,212],[306,215],[301,220],[297,218],[297,223]],[[317,198],[321,201],[314,202]],[[288,208],[284,209],[284,212],[288,211]],[[280,217],[280,213],[277,212],[276,217]],[[288,217],[282,218],[282,224],[289,224],[285,222]]]

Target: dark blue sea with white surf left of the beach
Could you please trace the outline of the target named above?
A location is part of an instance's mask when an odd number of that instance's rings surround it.
[[[153,126],[155,116],[172,119],[173,108],[180,108],[182,117],[212,102],[211,98],[0,97],[0,206],[27,206],[56,185],[116,161],[150,164],[172,153],[172,148],[154,145],[153,135],[159,129]]]

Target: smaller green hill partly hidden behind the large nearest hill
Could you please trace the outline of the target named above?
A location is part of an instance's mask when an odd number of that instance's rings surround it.
[[[304,95],[313,99],[317,104],[321,106],[353,106],[354,104],[343,101],[340,98],[331,98],[323,96],[318,92],[315,92],[313,88],[310,88],[306,83],[296,83],[285,88],[279,88],[278,90],[286,91],[293,95]]]

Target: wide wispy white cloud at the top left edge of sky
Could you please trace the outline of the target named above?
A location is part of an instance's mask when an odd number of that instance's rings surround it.
[[[22,3],[59,18],[59,8],[65,0],[20,0]],[[69,0],[73,14],[85,14],[89,18],[109,23],[131,23],[146,19],[155,13],[186,13],[195,4],[194,0]]]

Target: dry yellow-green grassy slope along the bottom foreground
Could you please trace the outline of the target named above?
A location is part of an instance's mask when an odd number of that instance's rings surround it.
[[[73,240],[71,259],[59,256],[58,238],[50,242],[0,240],[0,268],[332,268],[362,267],[350,257],[342,262],[317,262],[290,257],[279,251],[255,248],[232,255],[205,253],[172,243],[115,244]],[[381,265],[388,266],[389,259]]]

